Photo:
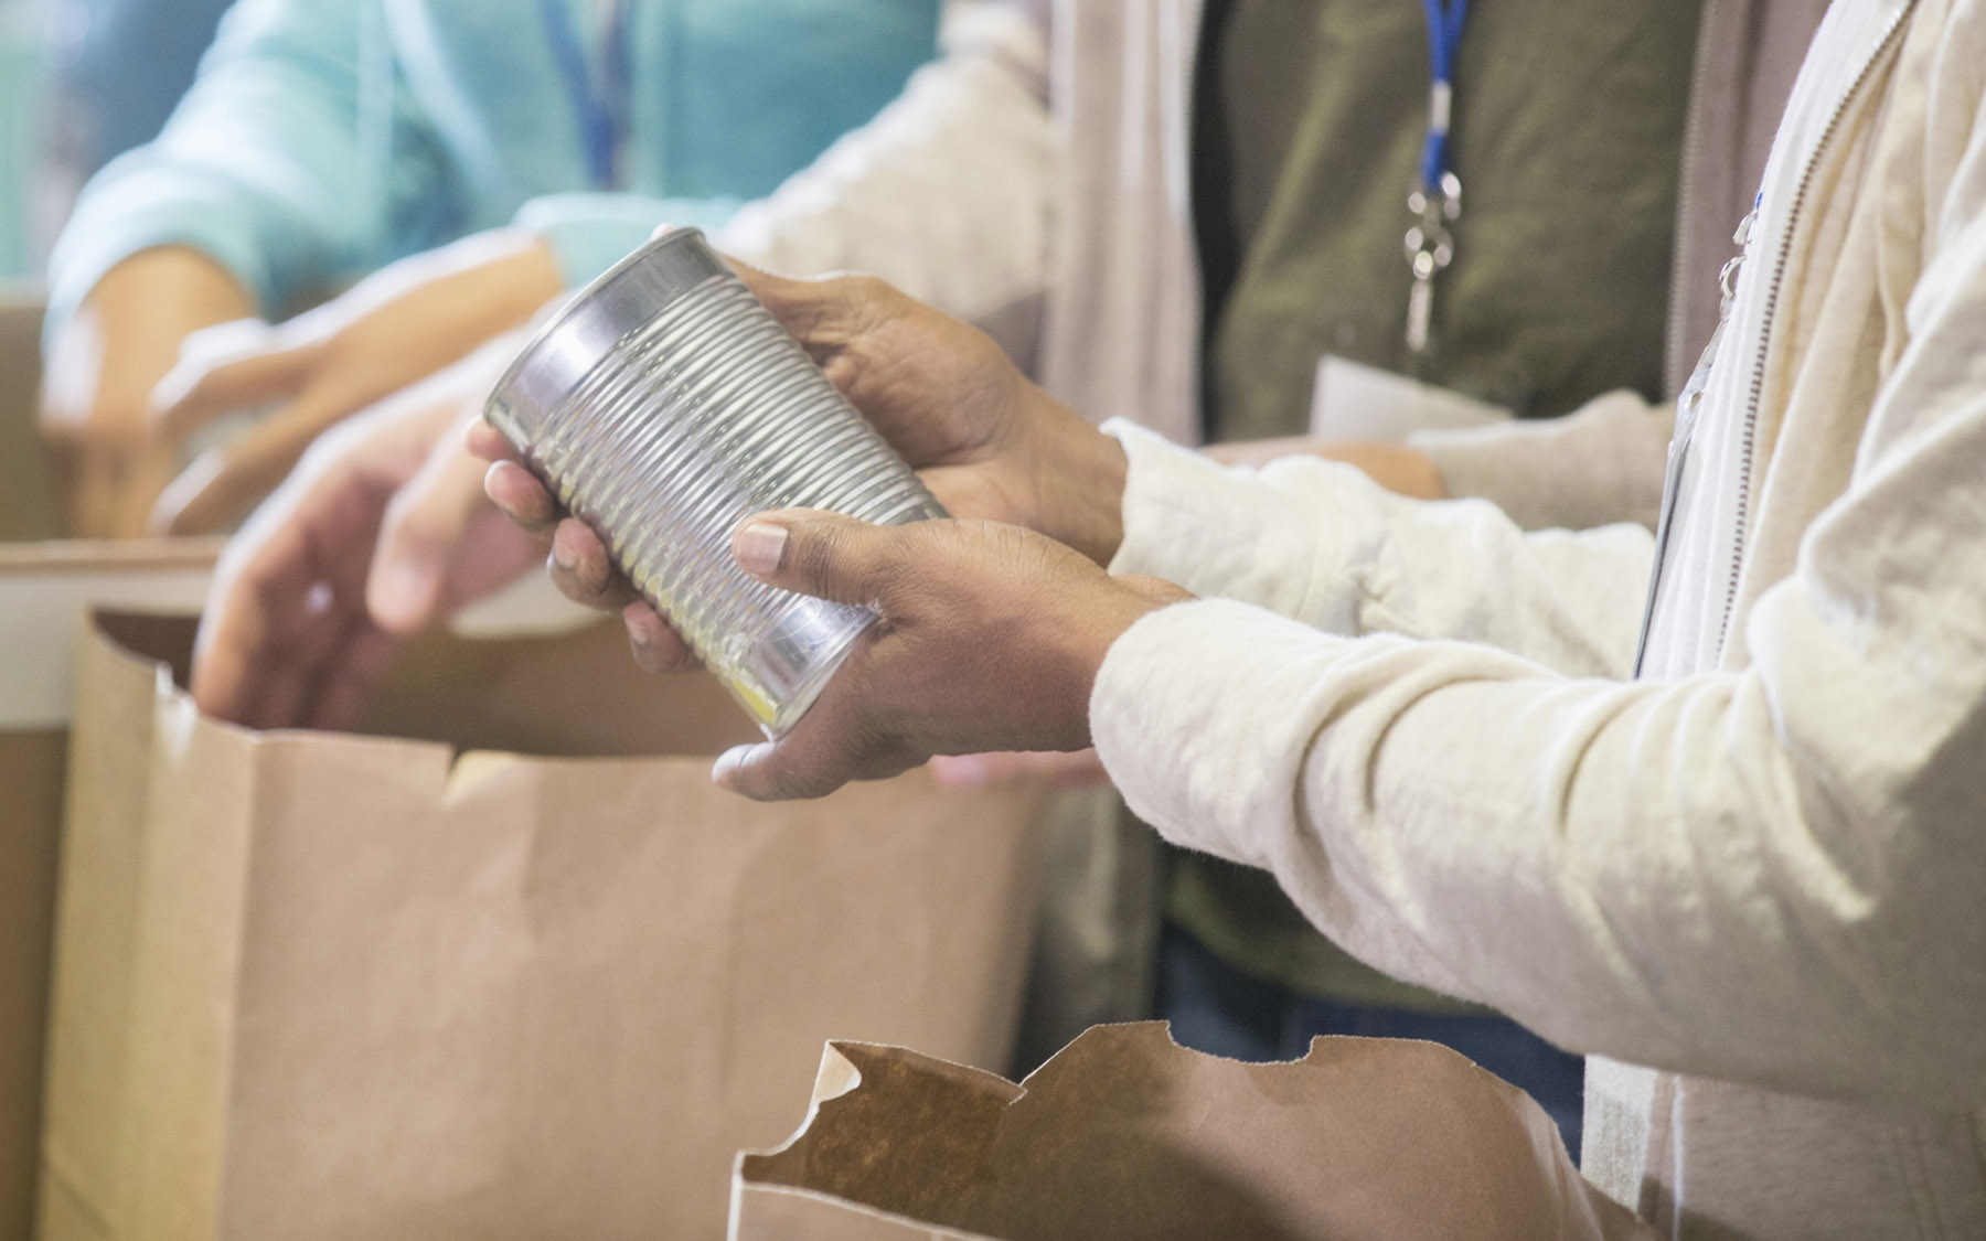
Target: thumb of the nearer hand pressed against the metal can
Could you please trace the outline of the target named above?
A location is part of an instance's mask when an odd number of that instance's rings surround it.
[[[761,512],[731,534],[731,554],[771,586],[872,606],[888,594],[908,530],[806,508]]]

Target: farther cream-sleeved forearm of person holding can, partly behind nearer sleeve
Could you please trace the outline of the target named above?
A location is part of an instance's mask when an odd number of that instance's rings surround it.
[[[1627,675],[1646,530],[1525,534],[1482,502],[1388,494],[1348,465],[1221,469],[1148,431],[1130,453],[1114,572],[1150,574],[1333,633],[1482,641],[1577,675]]]

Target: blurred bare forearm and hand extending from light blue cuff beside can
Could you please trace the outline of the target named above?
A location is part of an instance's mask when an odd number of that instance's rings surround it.
[[[530,232],[495,230],[403,258],[276,328],[244,320],[193,334],[157,387],[155,443],[179,451],[216,419],[274,409],[173,479],[151,506],[151,528],[230,526],[318,435],[518,328],[558,294],[550,250]]]

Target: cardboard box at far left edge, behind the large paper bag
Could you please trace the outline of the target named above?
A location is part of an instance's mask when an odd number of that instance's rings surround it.
[[[218,544],[64,542],[36,429],[42,308],[0,298],[0,1241],[34,1235],[70,651],[89,604],[197,608]]]

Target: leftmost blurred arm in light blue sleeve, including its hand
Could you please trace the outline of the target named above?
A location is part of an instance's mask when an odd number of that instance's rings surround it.
[[[151,391],[189,332],[282,308],[383,254],[379,147],[431,161],[433,143],[407,107],[361,115],[373,26],[369,4],[236,4],[161,137],[83,191],[50,256],[42,409],[75,453],[77,534],[143,530],[173,457],[149,433]]]

